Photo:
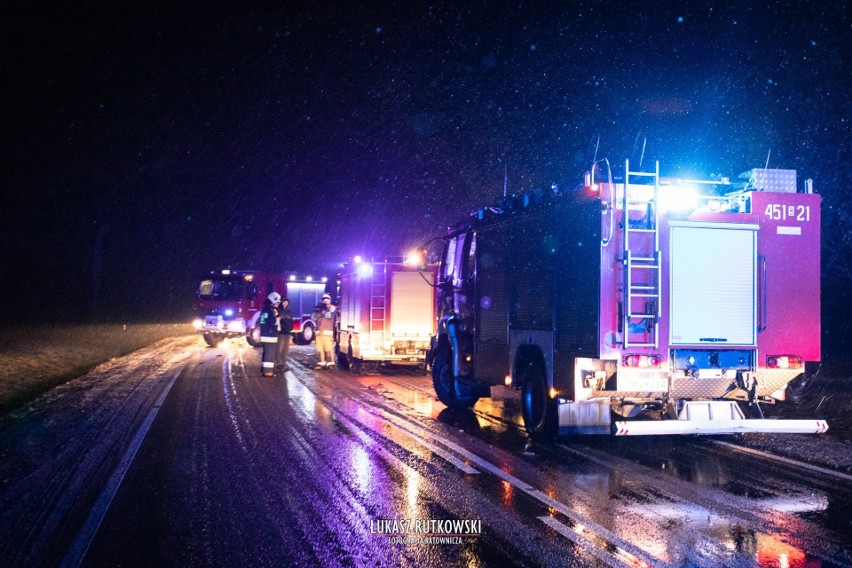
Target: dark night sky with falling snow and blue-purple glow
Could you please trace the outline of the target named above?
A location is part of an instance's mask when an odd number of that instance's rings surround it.
[[[212,268],[400,254],[504,160],[573,185],[597,135],[669,175],[771,150],[852,282],[843,2],[242,4],[3,3],[4,318],[180,319]]]

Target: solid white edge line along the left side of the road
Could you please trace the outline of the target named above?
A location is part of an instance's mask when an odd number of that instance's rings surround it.
[[[61,568],[77,568],[83,562],[83,558],[85,558],[86,552],[88,552],[89,546],[92,544],[92,539],[95,537],[95,533],[98,532],[98,528],[101,526],[101,522],[103,522],[104,517],[109,510],[109,506],[112,504],[112,500],[115,498],[115,494],[118,492],[118,488],[121,486],[121,482],[124,480],[125,474],[127,474],[127,471],[130,469],[130,464],[133,463],[133,458],[136,457],[136,452],[139,451],[139,447],[142,445],[142,441],[148,434],[148,429],[154,422],[157,412],[159,412],[160,407],[163,406],[166,396],[169,394],[169,391],[172,390],[172,385],[175,384],[175,381],[183,372],[184,368],[185,365],[172,375],[168,384],[166,384],[166,387],[163,389],[163,392],[160,393],[157,402],[155,402],[154,406],[151,407],[151,410],[148,411],[148,415],[145,417],[144,422],[142,422],[142,425],[139,427],[139,430],[136,431],[136,435],[130,442],[130,446],[127,448],[127,451],[124,452],[124,456],[121,458],[121,461],[118,462],[118,465],[113,470],[112,475],[110,475],[109,480],[101,491],[101,494],[98,496],[97,501],[95,501],[92,510],[89,511],[89,516],[86,517],[86,522],[83,523],[83,527],[80,529],[80,532],[77,533],[77,537],[74,539],[74,542],[65,554],[65,558],[62,559],[62,564],[60,564]]]

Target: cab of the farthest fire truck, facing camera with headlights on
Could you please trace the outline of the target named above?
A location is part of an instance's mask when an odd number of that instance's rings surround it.
[[[193,326],[211,347],[226,338],[242,337],[263,307],[266,296],[287,288],[283,274],[253,270],[213,271],[199,279]],[[246,335],[249,344],[252,338]]]

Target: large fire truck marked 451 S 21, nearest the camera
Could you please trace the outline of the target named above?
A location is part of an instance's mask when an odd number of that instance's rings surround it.
[[[598,166],[605,164],[600,183]],[[820,358],[820,196],[794,170],[620,179],[504,198],[444,240],[438,398],[521,391],[533,438],[819,433],[762,405]]]

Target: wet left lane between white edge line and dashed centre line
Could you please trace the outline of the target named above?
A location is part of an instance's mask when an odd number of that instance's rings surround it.
[[[200,351],[176,381],[82,564],[598,563],[570,540],[551,539],[545,525],[520,523],[532,504],[507,511],[471,491],[473,474],[371,412],[353,377],[293,367],[292,375],[268,379],[254,351]],[[482,522],[480,534],[452,544],[396,544],[377,534],[386,519]]]

